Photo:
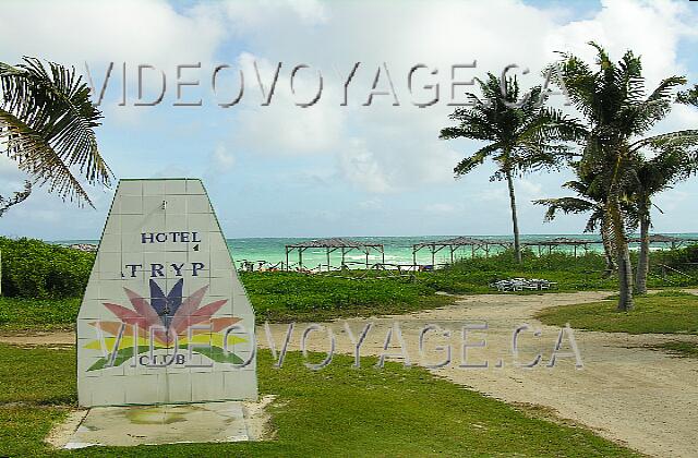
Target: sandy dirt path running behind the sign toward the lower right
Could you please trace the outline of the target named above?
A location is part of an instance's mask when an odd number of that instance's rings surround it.
[[[695,291],[694,291],[695,292]],[[412,364],[434,364],[444,360],[445,351],[437,346],[452,347],[452,362],[432,370],[438,376],[470,387],[507,402],[544,406],[559,418],[581,423],[598,434],[624,443],[648,455],[661,457],[698,456],[698,361],[676,358],[647,346],[670,340],[698,342],[698,336],[640,335],[575,330],[574,338],[583,362],[575,367],[575,358],[557,359],[547,367],[559,328],[542,325],[533,315],[554,305],[592,302],[607,292],[547,293],[541,296],[484,294],[464,297],[454,305],[409,315],[380,318],[341,320],[328,324],[336,337],[336,350],[353,353],[354,345],[345,330],[347,323],[354,337],[371,322],[373,327],[363,341],[361,355],[383,352],[386,334],[399,322],[406,350]],[[483,339],[486,347],[468,349],[468,363],[483,363],[486,369],[461,369],[462,325],[488,324],[486,330],[469,332],[467,341]],[[532,361],[541,354],[541,362],[524,369],[515,364],[512,351],[514,330],[521,324],[531,330],[519,335],[519,360]],[[450,330],[450,337],[430,332],[424,338],[424,355],[419,352],[419,337],[429,324]],[[289,350],[299,350],[306,325],[296,324]],[[269,326],[277,348],[285,340],[287,325]],[[539,332],[535,336],[533,333]],[[263,326],[257,328],[261,347],[268,347]],[[15,345],[74,343],[72,333],[0,336],[0,342]],[[392,342],[397,343],[395,333]],[[326,351],[324,333],[311,333],[311,350]],[[567,335],[563,351],[569,350]],[[397,352],[395,345],[388,352]],[[390,358],[388,361],[399,361]],[[501,366],[500,366],[501,365]]]

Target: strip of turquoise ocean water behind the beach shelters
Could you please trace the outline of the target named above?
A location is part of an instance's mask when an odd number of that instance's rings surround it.
[[[698,233],[666,233],[676,238],[684,239],[698,239]],[[385,249],[385,262],[387,264],[412,264],[412,245],[420,242],[431,242],[443,239],[449,239],[455,236],[423,236],[423,237],[352,237],[347,238],[350,240],[382,243]],[[510,236],[468,236],[476,239],[494,239],[494,240],[512,240]],[[526,234],[521,236],[521,241],[527,240],[549,240],[556,237],[566,237],[574,239],[587,239],[589,241],[598,241],[599,236],[594,234]],[[232,253],[232,257],[236,261],[238,267],[244,261],[249,262],[267,262],[270,264],[277,264],[286,262],[287,244],[299,243],[302,241],[312,240],[312,238],[250,238],[250,239],[228,239],[228,246]],[[57,243],[97,243],[96,240],[61,240]],[[660,245],[657,245],[660,246]],[[558,246],[555,251],[571,252],[571,248]],[[590,250],[601,251],[600,244],[590,245]],[[492,248],[491,253],[497,252],[497,248]],[[578,253],[583,253],[582,249],[578,249]],[[480,254],[483,254],[480,251]],[[462,248],[455,253],[455,257],[470,257],[470,248]],[[330,263],[334,266],[339,266],[341,262],[341,255],[339,252],[335,252],[330,255]],[[362,263],[365,263],[365,254],[359,251],[350,251],[345,257],[347,264],[350,267],[359,267]],[[289,258],[291,265],[298,263],[298,253],[292,252]],[[370,263],[381,262],[381,253],[371,252],[369,256]],[[432,255],[429,249],[422,249],[417,254],[418,264],[431,264]],[[437,264],[450,262],[450,253],[447,249],[436,253],[435,262]],[[324,249],[308,249],[303,252],[303,266],[308,268],[316,267],[318,264],[325,265],[327,263],[327,256]],[[356,263],[356,264],[353,264]]]

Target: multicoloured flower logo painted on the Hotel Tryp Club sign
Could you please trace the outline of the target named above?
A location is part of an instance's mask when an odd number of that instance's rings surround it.
[[[103,350],[106,355],[87,371],[121,365],[133,357],[149,352],[151,346],[154,349],[191,350],[219,363],[243,362],[233,352],[226,351],[224,342],[227,339],[227,345],[231,346],[246,341],[238,335],[226,336],[227,329],[241,318],[213,317],[228,302],[227,299],[200,306],[208,286],[183,298],[183,279],[174,284],[167,294],[155,280],[151,280],[149,285],[149,301],[123,288],[133,310],[110,302],[104,303],[107,310],[120,320],[119,322],[89,323],[97,329],[100,339],[88,342],[84,348]],[[192,327],[194,325],[196,326]]]

